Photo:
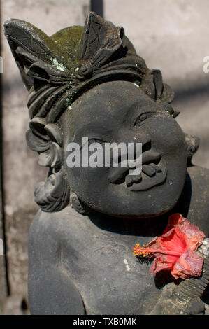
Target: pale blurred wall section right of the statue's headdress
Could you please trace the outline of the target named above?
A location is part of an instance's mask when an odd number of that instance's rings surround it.
[[[160,69],[175,90],[177,121],[201,138],[194,163],[209,168],[209,73],[207,0],[104,0],[104,18],[124,27],[138,55],[150,69]]]

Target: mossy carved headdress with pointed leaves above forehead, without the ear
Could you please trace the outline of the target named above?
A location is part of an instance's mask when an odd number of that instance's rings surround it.
[[[143,83],[151,97],[172,100],[160,71],[147,69],[124,29],[95,13],[89,13],[85,27],[67,27],[51,37],[22,20],[8,20],[4,31],[29,90],[31,119],[55,122],[80,94],[110,80]]]

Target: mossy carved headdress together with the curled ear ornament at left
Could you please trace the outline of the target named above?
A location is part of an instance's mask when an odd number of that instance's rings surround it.
[[[89,13],[85,27],[67,27],[47,36],[28,22],[8,20],[4,32],[29,91],[28,146],[50,167],[38,183],[35,200],[43,211],[59,211],[69,203],[63,165],[59,118],[81,94],[113,80],[136,83],[153,99],[172,102],[173,90],[159,70],[150,70],[134,50],[122,27]]]

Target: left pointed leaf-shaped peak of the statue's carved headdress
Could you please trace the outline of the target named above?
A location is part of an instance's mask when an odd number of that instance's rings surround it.
[[[43,31],[17,19],[7,20],[3,28],[27,90],[49,83],[62,85],[69,80],[66,56]]]

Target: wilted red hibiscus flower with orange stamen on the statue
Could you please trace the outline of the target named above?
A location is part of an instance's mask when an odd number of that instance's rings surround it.
[[[136,244],[134,255],[154,258],[151,274],[171,270],[175,279],[201,276],[203,258],[196,250],[203,244],[204,233],[180,214],[169,217],[163,235],[147,246]]]

